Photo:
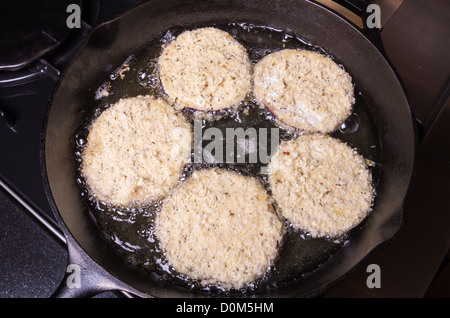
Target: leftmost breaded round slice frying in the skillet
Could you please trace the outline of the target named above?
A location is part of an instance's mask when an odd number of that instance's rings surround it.
[[[162,99],[124,98],[92,123],[81,172],[100,201],[149,203],[178,183],[192,142],[191,125]]]

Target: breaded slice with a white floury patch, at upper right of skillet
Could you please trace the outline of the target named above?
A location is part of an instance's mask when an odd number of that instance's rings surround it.
[[[261,59],[254,70],[254,94],[277,119],[306,132],[329,133],[355,102],[350,75],[322,54],[285,49]]]

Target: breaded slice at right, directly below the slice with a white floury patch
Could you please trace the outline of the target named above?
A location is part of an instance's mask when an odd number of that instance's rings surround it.
[[[374,198],[365,159],[328,135],[284,141],[268,167],[279,213],[312,237],[336,237],[358,225]]]

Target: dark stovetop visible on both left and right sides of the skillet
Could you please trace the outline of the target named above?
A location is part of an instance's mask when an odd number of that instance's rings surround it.
[[[63,278],[65,238],[47,202],[39,165],[46,106],[73,47],[92,27],[140,2],[91,1],[81,29],[62,36],[62,49],[37,55],[19,70],[0,71],[0,297],[49,297]],[[450,203],[445,200],[450,189],[450,4],[372,3],[381,7],[386,54],[424,137],[405,205],[405,228],[323,297],[423,297],[450,247]],[[381,288],[367,286],[369,264],[380,266]],[[97,297],[123,296],[107,292]]]

